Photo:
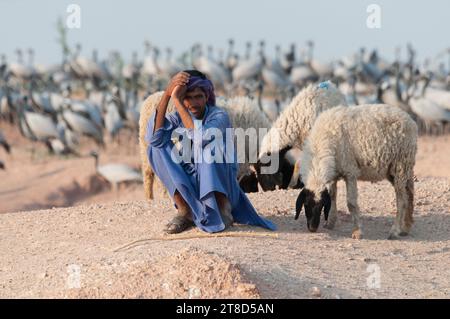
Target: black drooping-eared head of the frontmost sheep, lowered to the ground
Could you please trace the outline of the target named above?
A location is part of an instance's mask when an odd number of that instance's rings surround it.
[[[298,219],[303,206],[305,206],[306,223],[310,232],[316,232],[320,224],[320,215],[324,212],[325,221],[328,220],[328,214],[331,209],[331,197],[328,190],[325,189],[320,194],[320,200],[316,201],[314,193],[309,189],[302,189],[295,203],[295,219]]]

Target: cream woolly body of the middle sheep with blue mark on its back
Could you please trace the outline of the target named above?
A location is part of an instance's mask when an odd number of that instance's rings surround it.
[[[344,95],[333,83],[327,81],[304,88],[283,110],[264,136],[259,158],[291,147],[302,149],[303,142],[317,116],[338,105],[347,105],[347,103]]]

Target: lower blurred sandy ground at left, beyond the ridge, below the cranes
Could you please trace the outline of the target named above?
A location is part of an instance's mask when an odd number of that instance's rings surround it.
[[[43,144],[32,144],[15,128],[0,124],[12,148],[11,154],[0,150],[6,166],[5,171],[0,170],[0,213],[144,199],[141,185],[113,191],[95,174],[94,158],[87,155],[97,150],[100,165],[120,162],[140,169],[137,138],[130,132],[121,132],[119,141],[107,144],[105,149],[83,139],[81,157],[57,157],[50,155]]]

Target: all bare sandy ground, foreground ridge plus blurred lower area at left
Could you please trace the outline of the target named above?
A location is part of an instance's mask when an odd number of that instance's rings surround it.
[[[55,158],[43,147],[33,154],[14,130],[2,130],[13,153],[0,151],[0,297],[450,297],[449,136],[419,141],[415,224],[403,240],[386,239],[395,216],[387,182],[358,184],[363,240],[350,238],[343,183],[334,230],[312,234],[304,215],[294,221],[298,191],[289,190],[249,195],[278,225],[272,236],[237,225],[223,233],[230,237],[183,239],[162,234],[175,213],[169,201],[145,202],[141,185],[111,190],[92,158]],[[137,146],[125,144],[100,161],[137,167]]]

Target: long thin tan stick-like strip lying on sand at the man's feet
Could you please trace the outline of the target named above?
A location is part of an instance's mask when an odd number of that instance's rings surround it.
[[[136,244],[145,243],[154,240],[185,240],[185,239],[193,239],[193,238],[219,238],[219,237],[250,237],[250,238],[278,238],[278,234],[275,233],[254,233],[254,232],[229,232],[229,233],[218,233],[218,234],[187,234],[187,235],[176,235],[176,236],[156,236],[138,239],[132,241],[128,244],[120,246],[113,250],[113,252],[118,252],[125,249],[131,249],[133,247],[139,246]]]

